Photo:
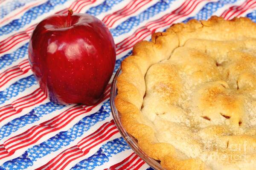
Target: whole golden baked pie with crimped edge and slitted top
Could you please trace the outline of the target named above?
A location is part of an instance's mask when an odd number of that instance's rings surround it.
[[[122,125],[166,170],[256,169],[256,23],[175,24],[121,69]]]

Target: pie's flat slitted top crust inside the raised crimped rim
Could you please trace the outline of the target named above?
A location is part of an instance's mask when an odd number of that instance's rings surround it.
[[[146,124],[181,159],[214,170],[256,166],[256,39],[189,39],[151,65],[145,85]]]

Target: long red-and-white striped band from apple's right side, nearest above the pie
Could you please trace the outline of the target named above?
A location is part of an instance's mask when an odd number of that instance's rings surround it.
[[[160,17],[158,20],[148,22],[145,26],[137,29],[133,35],[116,44],[116,55],[128,52],[137,42],[150,37],[156,29],[172,25],[176,20],[185,18],[195,11],[200,3],[207,2],[209,0],[186,0],[179,8],[169,14]]]

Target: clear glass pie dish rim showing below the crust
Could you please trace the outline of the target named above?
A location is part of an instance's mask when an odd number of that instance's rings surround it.
[[[125,141],[131,147],[131,149],[134,150],[134,152],[138,156],[140,156],[140,158],[143,159],[143,161],[145,161],[150,167],[152,167],[155,170],[164,170],[163,167],[161,167],[159,161],[148,157],[139,148],[137,140],[133,136],[128,134],[128,132],[126,132],[125,128],[122,126],[121,119],[120,119],[120,114],[118,113],[118,111],[116,109],[116,106],[115,106],[115,98],[116,98],[116,95],[117,95],[116,79],[119,76],[119,74],[121,74],[121,69],[120,68],[116,71],[116,74],[113,78],[113,83],[112,83],[112,86],[111,86],[111,93],[110,93],[111,112],[112,112],[112,115],[113,115],[113,119],[116,123],[116,126],[117,126],[119,132],[121,133],[122,137],[125,139]]]

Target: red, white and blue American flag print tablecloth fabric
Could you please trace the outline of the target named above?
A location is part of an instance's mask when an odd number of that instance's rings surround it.
[[[116,43],[114,72],[136,42],[173,23],[212,15],[256,22],[256,0],[0,0],[0,170],[151,170],[113,122],[111,82],[97,105],[57,105],[32,75],[32,31],[68,8],[108,26]]]

